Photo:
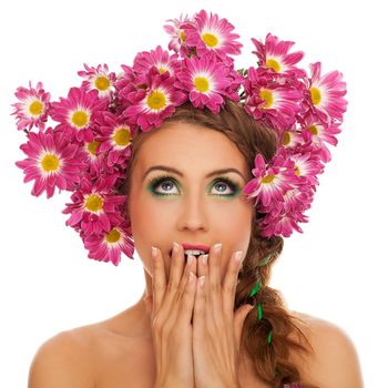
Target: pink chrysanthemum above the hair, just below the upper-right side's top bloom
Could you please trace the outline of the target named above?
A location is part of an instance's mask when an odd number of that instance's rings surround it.
[[[265,116],[275,129],[292,127],[300,111],[303,95],[296,89],[284,88],[268,75],[264,69],[248,69],[248,76],[243,82],[246,92],[245,110],[255,120]]]

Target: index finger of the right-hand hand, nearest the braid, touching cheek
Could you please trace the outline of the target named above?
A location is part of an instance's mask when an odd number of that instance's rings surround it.
[[[222,299],[224,313],[233,316],[234,300],[236,295],[238,270],[242,264],[243,252],[237,251],[232,255],[226,269],[226,275],[224,277],[222,286]]]

